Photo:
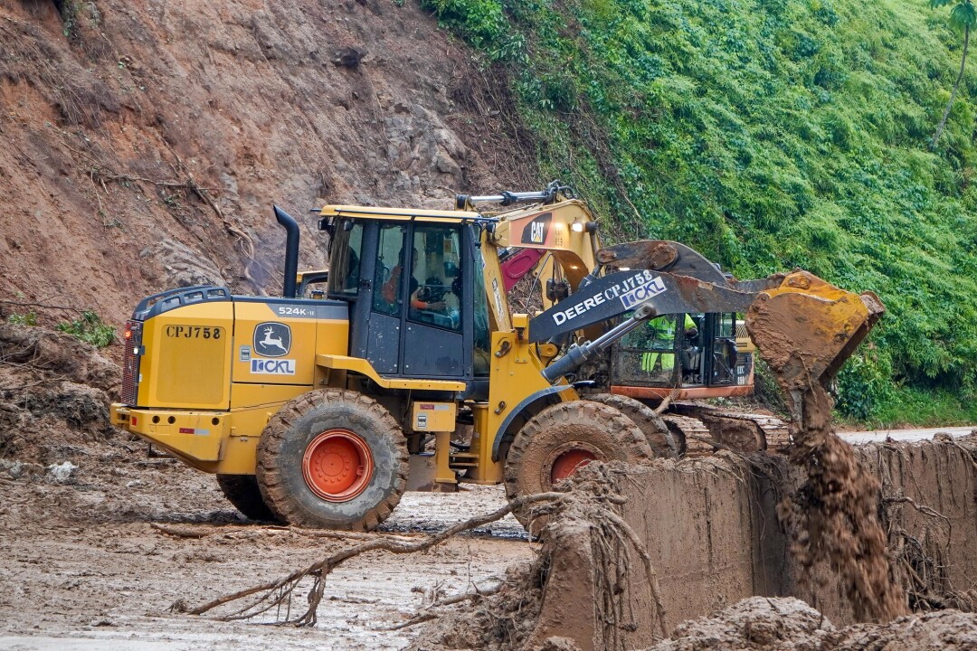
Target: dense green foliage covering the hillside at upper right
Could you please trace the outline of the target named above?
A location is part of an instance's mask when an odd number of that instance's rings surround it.
[[[926,0],[421,4],[508,75],[546,175],[618,238],[878,293],[843,413],[977,418],[977,76],[931,150],[962,39]]]

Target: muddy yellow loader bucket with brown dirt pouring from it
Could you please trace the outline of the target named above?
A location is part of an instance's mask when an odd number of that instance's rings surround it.
[[[801,277],[797,282],[812,281]],[[863,305],[845,310],[844,304],[859,299]],[[807,482],[784,500],[779,515],[798,525],[787,528],[795,532],[791,550],[804,568],[828,561],[837,568],[856,619],[888,622],[906,614],[908,606],[906,594],[893,580],[878,518],[881,487],[856,459],[852,446],[831,430],[833,401],[828,394],[834,373],[884,307],[871,294],[842,297],[830,308],[825,304],[786,294],[757,301],[746,315],[746,328],[790,408],[788,459],[807,470]],[[837,311],[835,305],[840,305]],[[843,310],[847,319],[838,316]]]

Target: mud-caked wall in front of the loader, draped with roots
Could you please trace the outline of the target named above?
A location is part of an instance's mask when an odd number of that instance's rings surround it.
[[[906,594],[897,606],[907,611],[912,607],[916,612],[973,610],[977,590],[977,539],[972,535],[977,528],[977,502],[973,499],[977,495],[977,436],[872,444],[860,446],[852,454],[846,460],[849,467],[860,468],[878,487],[866,508],[876,518],[882,535],[873,543],[881,544],[880,553],[893,561],[891,569],[886,561],[887,576],[894,584],[889,593]],[[584,468],[587,472],[580,471],[581,479],[595,471],[593,466]],[[783,631],[785,639],[792,639],[791,627],[807,626],[804,622],[817,623],[824,617],[837,626],[849,626],[869,612],[859,600],[863,593],[871,593],[871,584],[852,590],[850,582],[839,580],[843,568],[833,556],[798,558],[791,550],[807,535],[805,526],[811,520],[781,520],[778,512],[783,512],[788,496],[810,490],[808,468],[797,468],[782,456],[757,454],[746,459],[720,453],[706,459],[657,460],[641,467],[612,466],[602,477],[602,487],[584,481],[584,488],[576,492],[603,491],[604,503],[619,513],[647,549],[652,577],[624,529],[602,530],[593,524],[592,512],[555,517],[531,570],[514,575],[522,577],[524,583],[510,581],[502,592],[507,595],[506,603],[513,603],[518,595],[532,594],[531,599],[514,610],[494,604],[495,597],[489,597],[475,608],[480,613],[475,620],[467,613],[440,622],[421,636],[424,642],[417,648],[486,645],[534,649],[551,637],[573,640],[582,651],[642,648],[656,644],[670,631],[683,631],[677,628],[684,622],[728,608],[751,595],[763,595],[794,596],[814,610],[801,609],[800,620],[792,619],[789,625],[759,620],[749,625],[747,631],[752,629],[757,636],[752,646],[732,642],[710,646],[711,638],[705,635],[695,643],[663,648],[814,649],[819,647],[805,647],[799,642],[778,646],[779,637],[762,631],[764,627]],[[947,477],[953,477],[953,482],[947,482]],[[849,527],[845,531],[854,528],[852,523],[844,524]],[[848,539],[845,542],[854,544]],[[873,559],[857,560],[871,568]],[[618,574],[618,567],[626,571]],[[767,600],[750,603],[765,604]],[[811,615],[815,610],[816,617]],[[767,611],[743,606],[743,617],[762,620],[769,615],[777,619],[785,609],[779,605]],[[892,634],[898,636],[900,622],[903,620],[892,625],[895,629],[864,631],[870,636],[875,634],[871,631],[897,631]],[[514,638],[499,635],[498,627],[503,623],[521,634]],[[804,634],[813,639],[819,626],[815,624]],[[742,628],[734,627],[740,631],[737,634],[742,634]],[[451,637],[446,631],[466,631],[467,637]],[[832,639],[839,645],[855,643],[845,641],[848,638]]]

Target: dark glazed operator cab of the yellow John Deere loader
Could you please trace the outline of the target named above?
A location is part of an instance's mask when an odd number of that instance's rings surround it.
[[[389,378],[488,385],[480,226],[338,216],[328,297],[350,303],[350,351]],[[484,382],[483,379],[484,378]]]

